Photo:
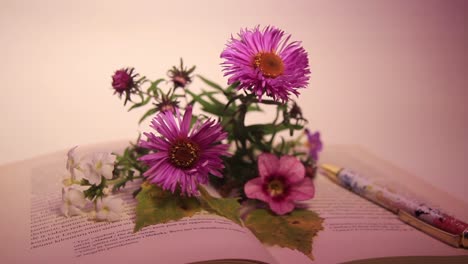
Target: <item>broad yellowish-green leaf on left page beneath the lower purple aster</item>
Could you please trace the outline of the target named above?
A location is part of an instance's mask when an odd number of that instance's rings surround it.
[[[147,182],[142,184],[136,199],[134,232],[145,226],[176,221],[201,211],[197,198],[173,194]]]

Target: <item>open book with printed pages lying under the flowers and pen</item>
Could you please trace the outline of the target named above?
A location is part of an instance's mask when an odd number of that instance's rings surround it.
[[[81,149],[119,152],[127,144]],[[468,250],[452,248],[415,230],[321,175],[315,180],[316,197],[308,202],[325,218],[325,229],[314,239],[314,262],[297,251],[266,247],[247,228],[208,213],[133,233],[135,201],[130,191],[120,194],[127,208],[121,221],[65,218],[59,213],[65,160],[63,151],[0,167],[0,263],[385,263],[401,256],[468,262]],[[329,147],[321,161],[375,175],[395,186],[409,186],[408,192],[468,220],[467,204],[358,147]],[[427,259],[405,258],[410,260]]]

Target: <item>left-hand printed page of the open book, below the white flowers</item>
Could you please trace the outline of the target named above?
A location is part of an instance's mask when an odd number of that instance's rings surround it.
[[[248,229],[208,213],[134,233],[136,200],[132,187],[119,194],[125,201],[125,214],[120,221],[94,222],[87,216],[66,218],[59,211],[65,161],[65,155],[52,155],[0,169],[4,181],[15,177],[16,180],[7,181],[23,185],[22,189],[13,190],[16,198],[11,199],[20,210],[1,209],[1,215],[9,218],[0,220],[5,234],[0,241],[1,263],[170,264],[216,259],[276,263]],[[3,195],[2,198],[7,199]]]

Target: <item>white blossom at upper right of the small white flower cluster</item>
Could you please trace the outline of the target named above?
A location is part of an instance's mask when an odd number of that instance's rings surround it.
[[[115,159],[115,155],[110,153],[94,153],[85,164],[84,177],[91,184],[96,185],[101,183],[102,176],[106,179],[112,179]]]

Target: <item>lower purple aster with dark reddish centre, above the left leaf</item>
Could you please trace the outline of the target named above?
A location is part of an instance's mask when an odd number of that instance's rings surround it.
[[[214,120],[197,121],[190,128],[192,107],[181,117],[179,110],[160,112],[151,122],[160,136],[144,133],[147,140],[140,146],[154,153],[139,160],[149,166],[143,174],[151,183],[175,192],[180,186],[182,194],[198,194],[197,185],[208,181],[208,175],[222,177],[224,168],[221,156],[228,156],[228,144],[221,144],[227,133]]]

